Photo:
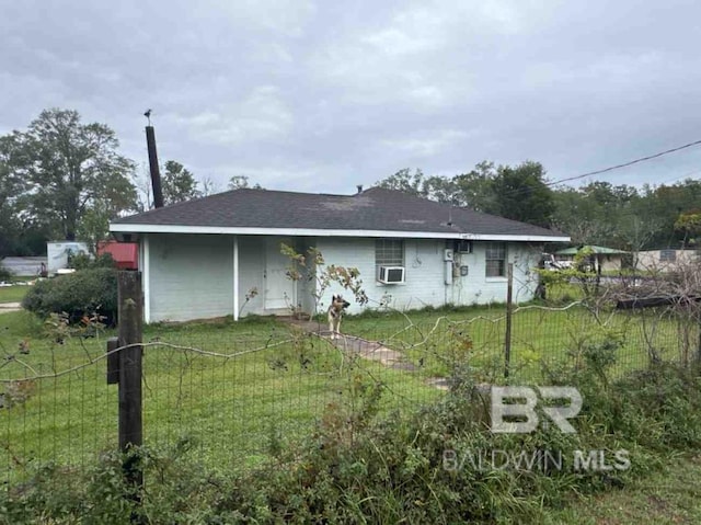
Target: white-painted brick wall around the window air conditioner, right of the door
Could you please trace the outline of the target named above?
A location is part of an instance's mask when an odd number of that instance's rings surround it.
[[[440,307],[446,304],[473,305],[506,301],[506,277],[485,277],[485,249],[482,242],[473,243],[473,253],[456,255],[458,266],[467,265],[468,275],[453,276],[452,285],[445,284],[444,249],[446,242],[433,239],[407,239],[404,243],[405,283],[384,285],[376,279],[374,239],[319,238],[317,246],[326,264],[357,267],[364,289],[370,298],[367,305],[376,308],[389,297],[392,308],[407,310],[425,306]],[[538,284],[532,271],[538,264],[540,248],[526,243],[508,244],[508,261],[514,263],[514,300],[533,298]],[[352,303],[349,311],[357,313],[363,308],[355,304],[350,294],[340,286],[331,286],[322,297],[320,310],[324,310],[333,294],[342,294]]]

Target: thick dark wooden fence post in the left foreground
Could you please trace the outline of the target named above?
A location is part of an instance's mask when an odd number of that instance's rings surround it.
[[[141,415],[141,330],[143,298],[140,272],[117,273],[119,315],[119,449],[127,453],[123,465],[129,484],[141,487],[143,472],[138,454],[131,448],[142,444]],[[133,345],[133,346],[129,346]],[[127,347],[125,347],[127,346]]]

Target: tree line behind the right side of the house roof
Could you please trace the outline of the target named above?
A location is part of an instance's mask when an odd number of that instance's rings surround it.
[[[696,248],[701,235],[701,181],[693,179],[640,189],[605,181],[572,187],[549,181],[539,162],[484,161],[452,176],[403,169],[377,185],[558,229],[574,244]]]

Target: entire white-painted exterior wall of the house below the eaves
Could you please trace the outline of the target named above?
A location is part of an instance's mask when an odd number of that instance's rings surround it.
[[[306,238],[297,243],[298,251],[317,246],[326,264],[357,267],[364,289],[370,298],[367,305],[370,308],[377,308],[383,300],[400,310],[506,300],[506,278],[487,278],[484,275],[485,243],[473,242],[473,253],[456,254],[457,265],[467,265],[469,270],[464,277],[453,276],[451,285],[445,284],[446,242],[443,240],[405,240],[406,282],[397,285],[384,285],[376,279],[375,239]],[[150,235],[149,255],[150,322],[185,321],[233,313],[232,236]],[[533,296],[537,279],[532,269],[539,255],[539,248],[526,243],[508,244],[508,260],[515,263],[514,300],[517,303],[530,300]],[[263,294],[264,237],[239,236],[239,272],[241,316],[268,313]],[[257,295],[251,294],[254,288]],[[363,307],[337,285],[324,293],[319,311],[326,309],[333,294],[344,295],[352,303],[352,312],[361,311]],[[246,301],[246,295],[254,297]],[[298,285],[298,300],[307,311],[313,310],[313,300],[304,283]]]

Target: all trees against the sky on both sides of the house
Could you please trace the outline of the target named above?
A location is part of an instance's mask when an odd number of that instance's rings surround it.
[[[108,126],[84,124],[71,110],[45,110],[26,130],[0,136],[0,256],[45,253],[47,240],[94,247],[107,237],[111,219],[150,209],[147,169],[118,148]],[[161,171],[166,205],[220,191],[175,160]],[[555,228],[577,244],[681,248],[696,246],[701,233],[701,181],[692,179],[641,189],[595,181],[575,189],[553,184],[539,162],[484,161],[451,176],[403,169],[376,185]],[[235,175],[228,189],[249,186],[245,175]]]

